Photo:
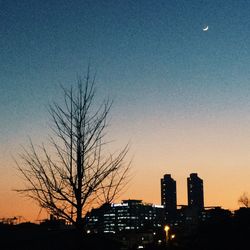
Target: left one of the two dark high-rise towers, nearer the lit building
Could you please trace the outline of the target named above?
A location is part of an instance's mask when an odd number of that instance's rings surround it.
[[[161,204],[165,209],[165,220],[168,223],[176,217],[176,181],[170,174],[161,179]]]

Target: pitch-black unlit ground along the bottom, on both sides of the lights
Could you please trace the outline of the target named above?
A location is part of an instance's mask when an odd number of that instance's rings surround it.
[[[149,245],[146,250],[241,250],[250,249],[250,209],[234,218],[215,218],[189,234],[182,230],[168,246]],[[116,235],[115,235],[116,236]],[[74,230],[50,229],[32,223],[0,224],[1,250],[125,250],[117,238],[82,235]],[[133,248],[137,249],[137,247]],[[132,249],[131,249],[132,250]]]

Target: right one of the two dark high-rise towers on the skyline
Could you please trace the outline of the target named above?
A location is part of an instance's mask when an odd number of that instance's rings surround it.
[[[192,173],[187,178],[188,207],[200,211],[204,209],[203,180]]]

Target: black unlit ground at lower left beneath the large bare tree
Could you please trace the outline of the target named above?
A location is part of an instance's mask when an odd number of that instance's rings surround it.
[[[0,225],[1,250],[119,250],[101,235],[83,237],[74,230],[48,230],[35,224]]]

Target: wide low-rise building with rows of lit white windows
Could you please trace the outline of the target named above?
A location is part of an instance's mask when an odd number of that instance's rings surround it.
[[[145,204],[141,200],[105,204],[86,216],[86,230],[92,233],[147,231],[162,228],[163,223],[163,206]]]

